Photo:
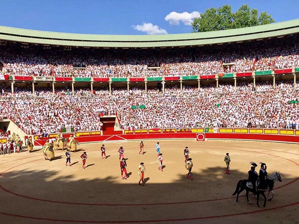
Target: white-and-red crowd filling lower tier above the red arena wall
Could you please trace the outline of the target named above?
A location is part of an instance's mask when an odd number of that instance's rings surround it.
[[[0,119],[10,118],[27,134],[55,133],[63,127],[74,131],[99,130],[101,115],[116,115],[124,128],[265,127],[298,128],[298,91],[292,81],[257,84],[238,83],[215,88],[206,85],[169,87],[164,95],[156,89],[109,90],[9,89],[1,87]],[[132,108],[132,106],[134,106]],[[137,107],[145,106],[145,107]],[[134,109],[135,108],[135,109]]]

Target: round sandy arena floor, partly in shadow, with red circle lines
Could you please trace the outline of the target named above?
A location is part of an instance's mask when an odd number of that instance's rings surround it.
[[[65,151],[45,161],[41,150],[0,156],[0,223],[171,223],[244,224],[299,223],[299,145],[249,141],[160,140],[163,172],[156,163],[156,141],[105,143],[107,159],[98,144],[82,144],[65,166]],[[121,179],[118,148],[123,146],[129,178]],[[183,149],[189,147],[194,180],[186,178]],[[36,148],[39,149],[39,148]],[[225,174],[225,153],[231,175]],[[265,162],[269,175],[280,171],[273,201],[258,208],[245,191],[239,202],[231,197],[240,179],[247,179],[250,161]],[[146,185],[139,186],[140,162],[146,166]],[[258,167],[259,168],[259,167]],[[258,171],[258,169],[257,169]],[[261,198],[263,204],[263,199]]]

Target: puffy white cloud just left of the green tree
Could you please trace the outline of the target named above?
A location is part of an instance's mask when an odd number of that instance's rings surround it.
[[[200,17],[200,13],[198,11],[193,11],[191,13],[186,11],[182,13],[172,11],[166,15],[164,19],[171,25],[179,25],[179,22],[181,21],[184,25],[190,26],[193,22],[193,19],[198,17]]]

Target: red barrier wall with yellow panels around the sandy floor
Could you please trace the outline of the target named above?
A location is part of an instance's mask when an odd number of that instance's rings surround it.
[[[166,133],[163,131],[166,130]],[[196,131],[195,131],[196,130]],[[153,139],[194,139],[204,141],[209,139],[217,140],[254,140],[254,141],[273,141],[283,143],[299,143],[299,130],[292,129],[262,129],[262,128],[197,128],[174,130],[176,133],[167,133],[167,129],[155,129],[150,132],[150,129],[140,130],[125,130],[126,134],[114,135],[96,135],[93,132],[84,132],[84,134],[67,133],[63,134],[68,137],[74,134],[75,139],[80,143],[88,142],[105,142],[105,141],[127,141],[127,140],[153,140]],[[193,132],[194,131],[194,132]],[[204,132],[205,131],[205,132]],[[241,132],[241,133],[240,133]],[[51,134],[52,136],[55,134]],[[34,145],[43,145],[46,138],[38,138],[34,136]]]

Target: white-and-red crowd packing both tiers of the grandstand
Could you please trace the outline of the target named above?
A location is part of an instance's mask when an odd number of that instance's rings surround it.
[[[218,78],[227,73],[275,71],[299,67],[299,34],[280,38],[169,48],[84,48],[1,41],[0,75],[81,78],[196,76],[193,82],[127,82],[108,86],[73,83],[1,82],[0,118],[9,118],[27,134],[99,130],[101,115],[115,115],[123,129],[191,127],[298,128],[296,74]],[[198,82],[201,76],[213,80]],[[284,75],[284,78],[283,78]],[[295,80],[294,80],[295,75]],[[236,76],[233,76],[236,77]],[[236,84],[234,83],[236,82]],[[53,84],[54,85],[54,84]],[[111,83],[109,83],[111,85]],[[293,103],[290,103],[293,102]],[[143,107],[140,107],[143,106]]]

